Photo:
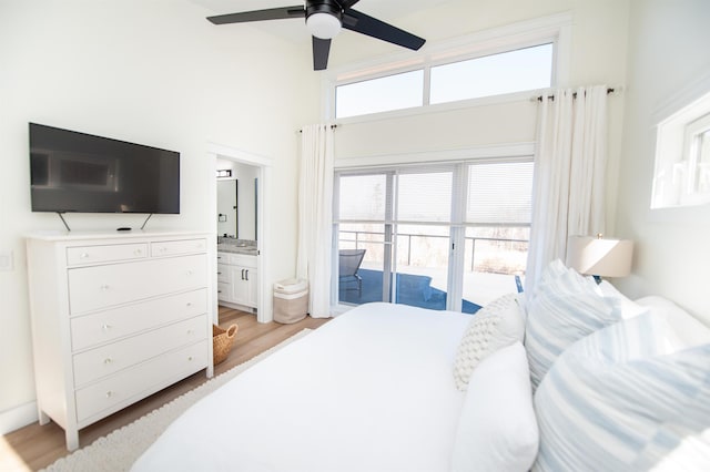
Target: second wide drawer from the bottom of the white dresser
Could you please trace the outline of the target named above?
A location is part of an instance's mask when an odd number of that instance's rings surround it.
[[[74,384],[83,386],[145,359],[206,339],[206,317],[197,316],[75,355]]]

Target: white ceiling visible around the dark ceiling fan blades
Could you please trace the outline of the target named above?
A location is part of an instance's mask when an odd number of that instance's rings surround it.
[[[263,10],[276,7],[292,7],[305,4],[298,0],[189,0],[204,7],[212,14],[236,13],[251,10]],[[448,0],[361,0],[353,8],[378,20],[397,25],[397,19],[418,10],[428,10]],[[311,43],[311,37],[304,20],[272,20],[251,23],[265,32],[275,34],[294,43]],[[221,25],[219,28],[240,28],[241,25]],[[412,33],[417,34],[416,31]],[[420,34],[419,34],[420,35]]]

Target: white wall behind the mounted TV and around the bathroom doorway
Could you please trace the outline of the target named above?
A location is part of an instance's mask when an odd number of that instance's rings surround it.
[[[311,51],[255,29],[220,29],[176,0],[3,0],[0,4],[0,428],[32,410],[30,322],[23,237],[63,229],[30,212],[28,122],[180,151],[181,215],[148,229],[216,234],[214,156],[220,143],[273,160],[274,279],[295,271],[297,133],[317,119]],[[254,48],[254,44],[258,48]],[[258,52],[258,53],[257,53]],[[72,229],[140,226],[144,216],[68,215]]]

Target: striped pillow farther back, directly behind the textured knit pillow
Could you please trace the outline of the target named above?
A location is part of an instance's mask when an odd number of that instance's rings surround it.
[[[540,286],[527,311],[525,348],[534,389],[568,346],[621,318],[618,301],[602,297],[594,279],[574,270]]]

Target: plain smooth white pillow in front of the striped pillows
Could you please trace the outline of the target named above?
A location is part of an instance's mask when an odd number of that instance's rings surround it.
[[[515,342],[490,355],[470,377],[452,471],[528,471],[538,441],[528,361]]]

